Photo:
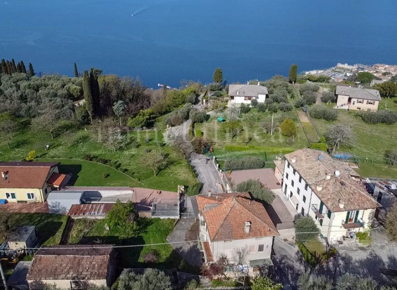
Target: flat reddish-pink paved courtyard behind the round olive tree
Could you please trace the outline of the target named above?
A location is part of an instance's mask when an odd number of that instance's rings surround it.
[[[254,179],[258,180],[269,189],[281,188],[281,185],[274,176],[274,171],[271,168],[234,170],[229,176],[233,186],[236,186],[240,182]]]

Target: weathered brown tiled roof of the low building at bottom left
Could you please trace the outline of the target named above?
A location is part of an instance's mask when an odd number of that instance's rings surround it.
[[[79,250],[81,247],[91,249]],[[111,253],[112,246],[61,245],[43,248],[34,255],[27,280],[106,280]]]

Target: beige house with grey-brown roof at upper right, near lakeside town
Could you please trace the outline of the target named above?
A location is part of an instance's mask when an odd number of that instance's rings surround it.
[[[381,95],[378,90],[336,86],[336,109],[378,111]]]

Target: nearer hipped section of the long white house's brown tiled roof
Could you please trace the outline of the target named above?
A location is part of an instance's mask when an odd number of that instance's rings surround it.
[[[331,212],[381,207],[357,180],[351,178],[332,176],[318,182],[312,189]],[[339,201],[343,207],[339,206]]]

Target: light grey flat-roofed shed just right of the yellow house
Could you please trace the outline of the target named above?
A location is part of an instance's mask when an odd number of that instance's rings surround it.
[[[51,191],[48,195],[48,209],[52,214],[66,214],[72,204],[81,204],[84,191]]]

